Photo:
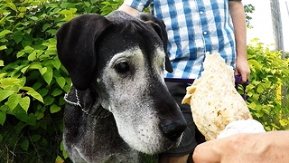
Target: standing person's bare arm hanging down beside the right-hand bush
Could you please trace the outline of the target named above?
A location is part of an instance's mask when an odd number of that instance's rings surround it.
[[[250,76],[250,69],[247,63],[247,27],[244,7],[240,0],[233,0],[228,2],[228,9],[235,29],[237,52],[235,74],[240,73],[242,75],[242,82],[246,82]]]

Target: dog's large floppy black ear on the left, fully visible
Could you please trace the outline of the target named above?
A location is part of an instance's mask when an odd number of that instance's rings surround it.
[[[78,90],[89,88],[96,71],[96,42],[112,23],[98,14],[82,14],[56,33],[57,53]]]

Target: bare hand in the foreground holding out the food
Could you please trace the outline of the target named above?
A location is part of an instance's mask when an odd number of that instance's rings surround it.
[[[213,139],[196,147],[194,163],[289,162],[289,131],[239,133],[224,139]]]

